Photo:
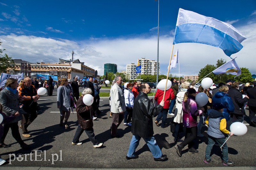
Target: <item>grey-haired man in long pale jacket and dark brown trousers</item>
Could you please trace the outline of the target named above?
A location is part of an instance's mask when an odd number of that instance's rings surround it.
[[[121,86],[121,76],[117,75],[114,81],[115,84],[110,89],[110,112],[113,114],[111,136],[120,138],[121,136],[117,134],[117,128],[124,120],[124,112],[126,111],[126,108],[124,103],[124,93]]]

